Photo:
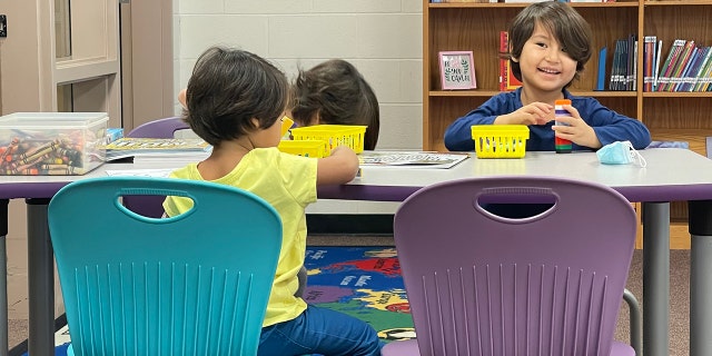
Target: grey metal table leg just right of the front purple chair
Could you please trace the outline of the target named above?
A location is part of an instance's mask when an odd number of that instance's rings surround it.
[[[670,202],[643,202],[643,355],[670,349]]]

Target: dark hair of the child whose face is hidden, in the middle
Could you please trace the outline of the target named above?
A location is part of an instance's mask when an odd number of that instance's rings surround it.
[[[299,125],[365,125],[364,149],[378,141],[379,109],[374,90],[349,62],[332,59],[307,71],[293,85],[293,119]]]

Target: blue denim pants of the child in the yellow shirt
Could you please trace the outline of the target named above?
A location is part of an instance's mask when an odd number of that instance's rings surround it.
[[[382,346],[365,322],[310,305],[293,320],[263,328],[257,355],[379,356]]]

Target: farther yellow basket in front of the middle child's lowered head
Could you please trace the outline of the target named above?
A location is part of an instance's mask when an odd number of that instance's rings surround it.
[[[325,141],[329,154],[342,145],[350,147],[356,154],[363,152],[365,134],[366,126],[355,125],[315,125],[291,129],[295,140]]]

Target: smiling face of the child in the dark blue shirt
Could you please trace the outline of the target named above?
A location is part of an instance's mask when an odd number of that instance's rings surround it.
[[[520,63],[522,82],[532,89],[561,91],[576,75],[576,61],[540,23],[514,60]]]

